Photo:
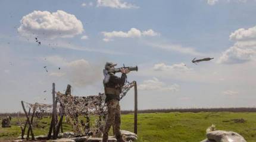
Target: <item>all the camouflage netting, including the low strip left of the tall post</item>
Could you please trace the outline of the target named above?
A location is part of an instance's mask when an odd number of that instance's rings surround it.
[[[127,92],[135,86],[135,81],[123,86],[120,94],[122,99]],[[105,117],[107,115],[107,106],[105,105],[105,94],[99,93],[93,96],[72,96],[71,93],[56,93],[57,113],[65,115],[65,120],[72,125],[75,135],[93,135],[101,137],[103,132]],[[37,118],[42,118],[45,113],[52,113],[52,104],[30,104],[24,102],[26,108],[35,112]],[[86,122],[79,119],[79,115],[86,118]],[[90,126],[90,118],[95,117],[95,124]],[[56,120],[57,121],[57,120]]]

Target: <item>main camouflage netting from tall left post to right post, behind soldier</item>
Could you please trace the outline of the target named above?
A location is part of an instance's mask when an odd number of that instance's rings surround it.
[[[127,83],[122,88],[120,99],[135,85],[135,81]],[[105,116],[107,115],[107,106],[105,105],[104,93],[94,96],[72,96],[57,92],[58,101],[61,104],[61,110],[70,118],[70,123],[76,135],[89,135],[100,137],[103,133]],[[79,121],[79,115],[86,117],[86,123]],[[95,117],[94,127],[90,127],[89,118]]]

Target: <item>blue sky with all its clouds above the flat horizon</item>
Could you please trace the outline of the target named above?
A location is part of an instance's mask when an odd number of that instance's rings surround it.
[[[139,109],[255,106],[255,6],[244,0],[2,0],[0,112],[20,111],[21,100],[51,103],[52,82],[58,91],[70,83],[74,95],[103,92],[107,61],[139,66],[128,76],[138,81]],[[214,60],[195,65],[194,57]],[[132,91],[121,108],[133,109]]]

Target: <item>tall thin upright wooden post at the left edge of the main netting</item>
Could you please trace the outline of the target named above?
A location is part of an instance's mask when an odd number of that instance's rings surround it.
[[[52,131],[53,131],[53,137],[52,139],[56,140],[56,105],[55,105],[55,83],[52,83]]]

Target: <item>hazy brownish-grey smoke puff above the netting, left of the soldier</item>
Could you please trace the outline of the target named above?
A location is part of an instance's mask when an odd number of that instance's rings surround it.
[[[85,59],[67,62],[63,57],[46,57],[46,61],[56,67],[61,66],[59,72],[49,73],[50,76],[57,76],[70,80],[76,86],[83,87],[99,82],[102,77],[102,67],[89,63]],[[60,63],[60,64],[59,64]]]

